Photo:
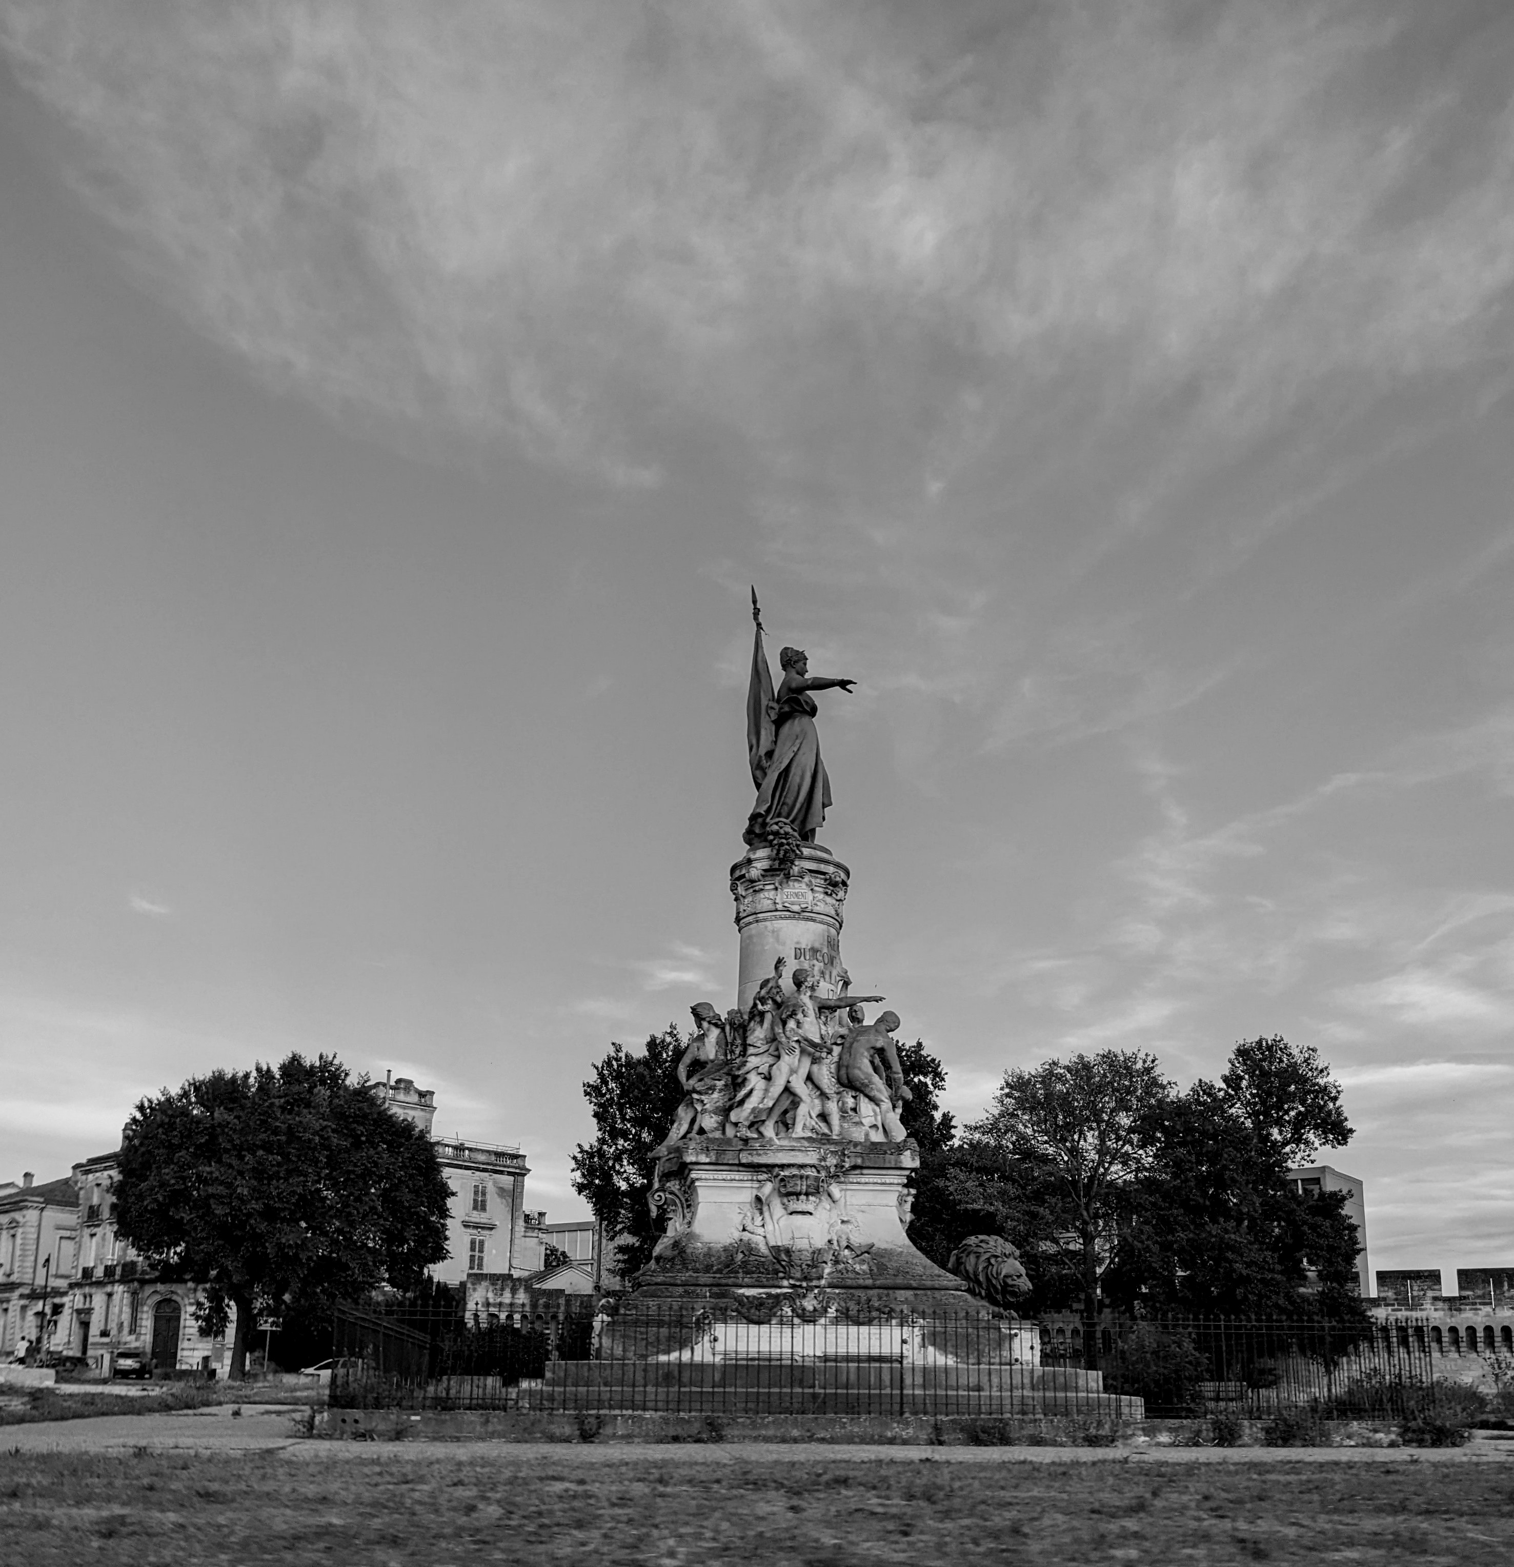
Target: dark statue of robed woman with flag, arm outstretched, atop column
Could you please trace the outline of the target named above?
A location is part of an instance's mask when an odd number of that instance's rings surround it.
[[[802,843],[813,843],[831,809],[831,779],[820,757],[812,691],[851,691],[856,680],[812,675],[802,647],[785,647],[777,661],[784,679],[773,691],[773,672],[762,647],[762,610],[752,589],[752,677],[746,693],[746,749],[757,799],[743,840],[760,843],[790,829]]]

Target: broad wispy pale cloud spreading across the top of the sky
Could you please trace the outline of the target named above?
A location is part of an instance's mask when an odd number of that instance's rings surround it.
[[[1469,124],[1423,25],[11,0],[3,38],[91,201],[270,378],[614,483],[669,414],[821,480],[886,454],[876,494],[929,506],[1094,351],[1089,409],[1182,398],[1202,445],[1506,342],[1514,114]]]

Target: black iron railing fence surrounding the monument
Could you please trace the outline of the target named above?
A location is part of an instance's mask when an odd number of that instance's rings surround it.
[[[342,1307],[331,1402],[382,1409],[1390,1420],[1434,1398],[1436,1351],[1373,1324],[1122,1321],[1092,1355],[1056,1329],[954,1313],[638,1302],[550,1319]],[[1092,1359],[1097,1366],[1086,1362]]]

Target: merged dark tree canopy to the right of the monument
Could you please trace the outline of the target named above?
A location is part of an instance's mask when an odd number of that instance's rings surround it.
[[[961,1136],[922,1147],[909,1235],[942,1266],[969,1235],[1005,1236],[1031,1310],[1078,1296],[1086,1310],[1091,1272],[1122,1310],[1349,1319],[1357,1236],[1343,1199],[1299,1196],[1287,1178],[1349,1136],[1329,1067],[1277,1037],[1243,1040],[1219,1083],[1182,1094],[1150,1056],[1045,1062],[1008,1073]]]

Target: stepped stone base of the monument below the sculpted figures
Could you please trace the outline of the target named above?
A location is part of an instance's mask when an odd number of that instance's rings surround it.
[[[1141,1418],[1097,1371],[1041,1366],[1034,1326],[911,1244],[918,1163],[912,1142],[671,1145],[652,1261],[596,1359],[549,1366],[542,1407]]]

